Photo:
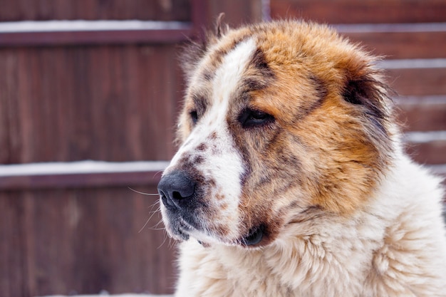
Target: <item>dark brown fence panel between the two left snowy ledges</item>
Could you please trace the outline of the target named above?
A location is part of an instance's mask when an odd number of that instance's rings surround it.
[[[0,49],[11,74],[0,78],[0,163],[169,160],[176,57],[161,45]]]

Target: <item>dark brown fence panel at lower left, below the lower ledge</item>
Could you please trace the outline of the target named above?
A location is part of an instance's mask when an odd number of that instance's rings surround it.
[[[0,192],[3,296],[172,293],[157,203],[125,188]]]

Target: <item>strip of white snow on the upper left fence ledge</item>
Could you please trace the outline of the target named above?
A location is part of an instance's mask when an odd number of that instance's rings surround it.
[[[124,31],[183,30],[190,24],[180,21],[5,21],[0,33],[63,32],[63,31]]]

